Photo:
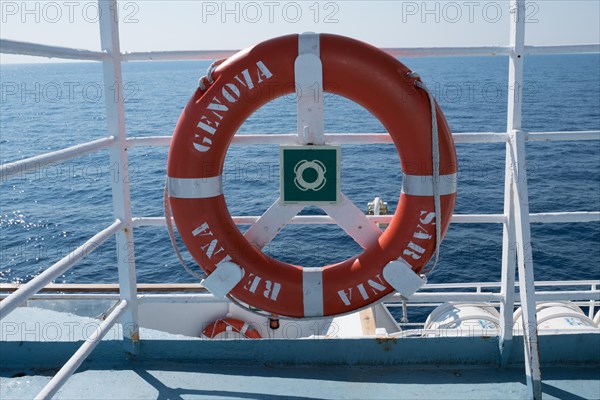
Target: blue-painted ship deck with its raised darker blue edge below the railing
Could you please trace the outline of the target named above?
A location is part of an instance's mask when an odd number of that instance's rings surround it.
[[[83,327],[93,321],[30,307],[7,317],[0,398],[34,398],[84,343]],[[502,360],[498,337],[206,340],[141,328],[131,355],[123,351],[121,330],[117,324],[107,333],[57,398],[522,399],[530,393],[522,336],[507,344]],[[541,335],[539,347],[544,399],[600,399],[600,334]]]

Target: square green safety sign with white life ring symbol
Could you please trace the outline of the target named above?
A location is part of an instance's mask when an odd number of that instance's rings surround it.
[[[340,148],[281,146],[283,204],[335,204],[340,193]]]

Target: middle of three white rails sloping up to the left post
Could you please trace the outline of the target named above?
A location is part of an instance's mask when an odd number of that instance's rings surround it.
[[[29,297],[33,296],[44,286],[67,272],[73,265],[88,256],[122,227],[123,223],[116,220],[108,228],[92,236],[84,244],[64,256],[60,261],[44,270],[44,272],[20,286],[18,290],[0,302],[0,319],[6,317]]]

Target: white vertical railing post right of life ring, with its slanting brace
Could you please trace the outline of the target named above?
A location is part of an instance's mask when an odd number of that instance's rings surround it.
[[[523,343],[525,352],[525,373],[527,387],[531,398],[542,398],[542,383],[540,371],[540,356],[538,351],[537,318],[535,303],[535,285],[533,276],[533,258],[531,249],[531,230],[529,225],[529,195],[527,192],[527,172],[525,165],[525,137],[521,131],[521,111],[523,99],[523,58],[525,56],[525,0],[510,1],[510,46],[508,67],[508,112],[507,131],[509,143],[507,145],[507,178],[511,180],[512,196],[506,204],[508,195],[505,196],[505,207],[508,205],[506,240],[503,245],[506,260],[503,257],[503,282],[507,286],[505,299],[512,296],[509,288],[511,278],[514,279],[514,269],[511,271],[512,254],[516,250],[519,271],[519,294],[522,308]],[[511,175],[508,177],[508,175]],[[508,185],[505,185],[505,190]],[[511,221],[511,218],[512,221]],[[511,224],[514,227],[515,245],[511,249]],[[504,271],[504,267],[506,271]],[[514,267],[513,267],[514,268]],[[514,285],[513,285],[514,286]],[[506,306],[509,304],[507,303]],[[504,328],[507,328],[508,307],[504,308]],[[506,335],[506,333],[504,333]],[[506,339],[506,336],[505,336]],[[505,357],[503,357],[505,358]]]

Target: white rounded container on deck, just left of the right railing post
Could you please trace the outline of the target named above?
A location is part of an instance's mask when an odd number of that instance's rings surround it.
[[[424,336],[497,335],[500,314],[490,304],[444,303],[429,314]]]

